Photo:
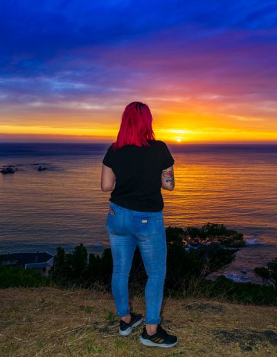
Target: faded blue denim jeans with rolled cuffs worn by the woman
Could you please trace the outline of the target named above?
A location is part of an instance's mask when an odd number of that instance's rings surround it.
[[[111,202],[106,229],[113,257],[111,292],[118,317],[129,313],[129,272],[134,250],[138,245],[148,275],[145,287],[145,322],[159,324],[166,277],[166,230],[163,211],[139,212]]]

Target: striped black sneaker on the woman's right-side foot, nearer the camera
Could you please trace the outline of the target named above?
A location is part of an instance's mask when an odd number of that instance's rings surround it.
[[[161,328],[161,325],[158,324],[157,332],[154,335],[148,335],[145,327],[143,328],[143,333],[139,338],[140,342],[145,346],[157,346],[157,347],[172,347],[177,345],[178,339],[177,336],[168,335],[168,333]]]

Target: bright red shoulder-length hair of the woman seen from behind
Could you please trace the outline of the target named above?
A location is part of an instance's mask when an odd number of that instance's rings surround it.
[[[150,109],[141,102],[129,103],[123,111],[117,139],[112,147],[120,149],[124,145],[150,146],[146,139],[155,140]]]

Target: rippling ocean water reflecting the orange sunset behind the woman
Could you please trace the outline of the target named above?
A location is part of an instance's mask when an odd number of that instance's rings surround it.
[[[100,190],[102,158],[110,143],[0,143],[0,253],[71,251],[109,246],[109,192]],[[165,225],[223,223],[247,246],[223,271],[236,281],[277,257],[277,145],[168,144],[175,158],[175,190],[162,190]],[[38,171],[39,165],[47,170]]]

